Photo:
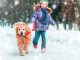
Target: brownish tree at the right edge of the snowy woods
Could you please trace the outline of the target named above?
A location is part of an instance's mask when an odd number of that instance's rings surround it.
[[[66,24],[69,25],[69,29],[72,29],[72,24],[75,21],[75,4],[72,0],[62,1],[62,15],[64,18],[64,28],[66,29]]]

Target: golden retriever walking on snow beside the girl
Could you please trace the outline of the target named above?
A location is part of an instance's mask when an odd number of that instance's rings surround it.
[[[20,55],[24,56],[28,52],[31,40],[31,30],[24,22],[16,23],[16,38]]]

